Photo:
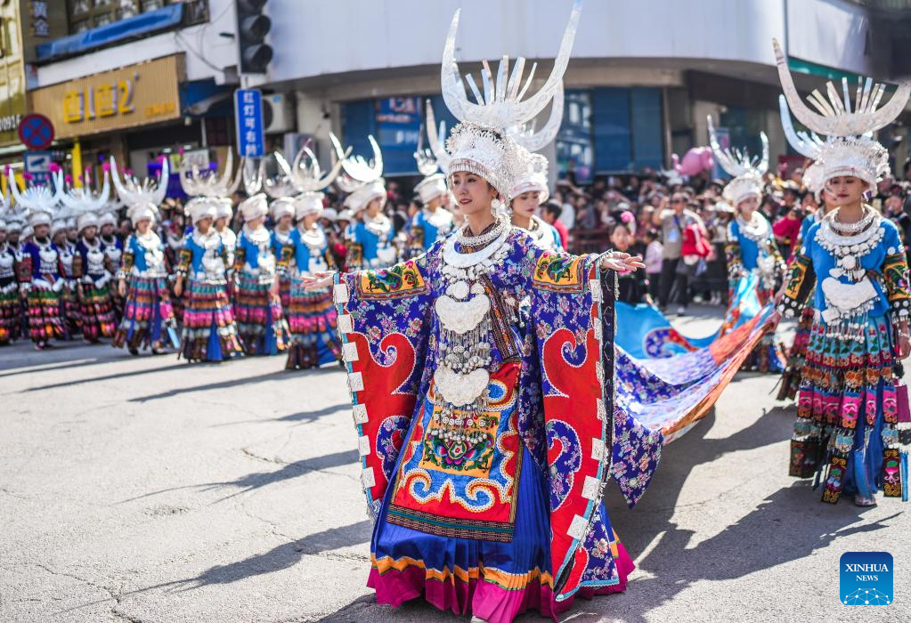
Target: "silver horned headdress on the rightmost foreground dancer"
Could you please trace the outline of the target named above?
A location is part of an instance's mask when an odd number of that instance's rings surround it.
[[[838,176],[852,176],[873,185],[889,174],[889,155],[872,133],[892,123],[904,110],[911,96],[911,81],[902,82],[892,98],[883,106],[879,103],[885,95],[885,85],[874,83],[872,78],[858,77],[854,109],[847,78],[842,78],[841,94],[834,85],[826,84],[826,96],[814,90],[807,100],[816,109],[810,109],[794,87],[787,58],[778,41],[773,39],[778,77],[782,82],[784,97],[794,117],[813,132],[825,135],[820,144],[818,160],[822,162],[820,184]]]

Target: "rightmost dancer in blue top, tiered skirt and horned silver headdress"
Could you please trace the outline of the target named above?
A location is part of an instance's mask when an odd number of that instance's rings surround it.
[[[801,100],[777,42],[775,56],[794,117],[828,137],[819,161],[825,188],[838,202],[807,232],[779,306],[793,316],[813,291],[789,472],[822,477],[824,502],[835,504],[844,493],[858,506],[875,506],[880,489],[886,497],[907,491],[896,424],[908,405],[899,404],[896,370],[911,352],[911,291],[896,226],[865,204],[865,192],[889,174],[888,152],[868,133],[904,109],[911,82],[877,109],[884,86],[867,80],[854,111],[847,87],[843,102],[829,85],[831,105],[824,102],[827,113],[820,115]]]

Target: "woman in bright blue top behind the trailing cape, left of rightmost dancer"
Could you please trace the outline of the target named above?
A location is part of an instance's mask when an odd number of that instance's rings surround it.
[[[736,183],[738,179],[732,181]],[[740,199],[734,210],[736,217],[728,225],[728,241],[725,256],[728,265],[730,301],[738,300],[743,287],[751,287],[761,305],[773,301],[775,291],[781,286],[785,270],[784,261],[769,221],[758,209],[762,197],[758,185],[741,184]],[[737,188],[735,186],[735,188]],[[775,344],[774,333],[767,333],[759,342],[744,367],[767,373],[781,373],[785,360]]]

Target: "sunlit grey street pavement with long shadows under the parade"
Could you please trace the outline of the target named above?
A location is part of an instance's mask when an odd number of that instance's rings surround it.
[[[375,605],[343,373],[282,366],[0,349],[0,621],[459,620]],[[824,505],[789,478],[776,381],[739,374],[633,510],[609,485],[638,569],[564,620],[911,620],[906,506]],[[842,606],[839,557],[881,550],[895,603]]]

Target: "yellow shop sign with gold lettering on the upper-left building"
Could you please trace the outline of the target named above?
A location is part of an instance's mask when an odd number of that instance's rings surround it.
[[[78,78],[33,91],[32,107],[51,119],[57,138],[132,128],[180,116],[183,56]]]

